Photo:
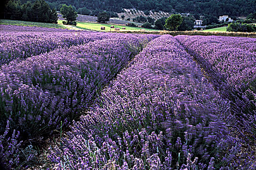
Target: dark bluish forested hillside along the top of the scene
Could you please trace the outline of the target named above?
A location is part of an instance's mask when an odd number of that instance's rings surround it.
[[[247,16],[256,9],[256,0],[47,0],[51,7],[67,3],[78,8],[86,7],[92,12],[107,10],[121,12],[122,8],[143,11],[155,10],[180,13],[210,14],[213,16]]]

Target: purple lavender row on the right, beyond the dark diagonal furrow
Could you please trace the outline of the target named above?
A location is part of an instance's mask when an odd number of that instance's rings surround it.
[[[194,55],[221,96],[232,102],[233,114],[225,118],[232,129],[243,127],[240,134],[255,144],[256,38],[178,35],[176,39]]]

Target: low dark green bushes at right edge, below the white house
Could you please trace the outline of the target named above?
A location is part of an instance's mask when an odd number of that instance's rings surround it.
[[[238,23],[238,22],[233,22],[228,24],[227,31],[229,32],[256,32],[256,26],[246,24],[246,23]]]

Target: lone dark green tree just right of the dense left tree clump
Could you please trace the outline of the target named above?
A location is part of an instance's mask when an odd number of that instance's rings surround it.
[[[77,17],[77,12],[74,11],[71,5],[67,6],[66,4],[62,4],[62,7],[60,8],[60,13],[67,20],[67,24],[76,25],[75,20]]]

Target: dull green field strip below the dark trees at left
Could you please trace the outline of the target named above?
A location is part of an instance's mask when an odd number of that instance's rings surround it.
[[[0,19],[0,25],[36,26],[36,27],[62,28],[62,29],[66,28],[65,26],[59,25],[59,24],[18,21],[18,20],[7,20],[7,19]]]

